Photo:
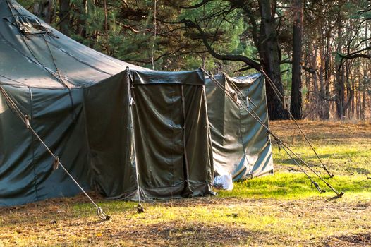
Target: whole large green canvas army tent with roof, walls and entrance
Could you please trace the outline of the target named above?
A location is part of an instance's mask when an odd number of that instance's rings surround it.
[[[267,121],[264,81],[255,79],[241,86]],[[0,205],[80,192],[16,108],[82,188],[108,198],[212,194],[214,168],[235,179],[271,172],[267,133],[227,104],[214,109],[223,91],[211,93],[209,83],[202,71],[111,58],[0,0]],[[222,124],[227,117],[234,120]]]

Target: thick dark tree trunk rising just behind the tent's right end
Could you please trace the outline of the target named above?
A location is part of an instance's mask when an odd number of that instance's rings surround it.
[[[260,0],[260,14],[262,21],[260,24],[260,60],[267,76],[272,79],[274,85],[281,95],[284,95],[284,85],[281,80],[281,51],[277,40],[275,1]],[[278,96],[269,83],[267,85],[267,104],[269,119],[287,119],[287,112],[284,110]]]

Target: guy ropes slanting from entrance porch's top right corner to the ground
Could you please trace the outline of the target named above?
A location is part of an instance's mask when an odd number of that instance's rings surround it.
[[[210,73],[208,73],[207,71],[205,71],[205,69],[203,68],[200,68],[201,71],[203,71],[207,76],[209,76],[209,78],[212,80],[212,82],[214,82],[221,90],[224,91],[225,95],[227,95],[233,102],[235,102],[233,100],[233,97],[231,96],[231,92],[229,92],[228,90],[226,90],[226,88],[221,85]],[[253,116],[253,118],[258,122],[260,123],[260,125],[265,128],[267,130],[267,132],[272,135],[272,137],[274,139],[276,139],[282,147],[284,147],[284,150],[286,151],[286,153],[288,154],[288,156],[291,157],[291,159],[293,159],[293,157],[288,153],[288,151],[291,152],[291,154],[293,156],[295,156],[301,163],[303,163],[305,165],[305,167],[308,167],[308,169],[310,169],[310,171],[312,171],[322,182],[324,182],[332,191],[334,191],[334,193],[336,193],[336,198],[340,198],[342,195],[343,195],[343,192],[339,193],[338,191],[336,191],[336,189],[334,187],[331,186],[331,184],[329,184],[327,181],[325,181],[322,176],[320,176],[320,174],[318,174],[314,169],[312,169],[312,167],[310,167],[303,159],[301,159],[295,152],[293,152],[293,150],[290,149],[290,147],[288,147],[282,140],[280,140],[278,138],[278,136],[274,135],[274,133],[272,133],[272,131],[262,122],[262,119],[260,119],[259,116],[254,116],[254,114],[252,114],[248,108],[246,108],[243,104],[240,104],[239,102],[236,102],[236,104],[243,108],[246,112],[248,112],[248,114],[250,114],[250,116]],[[255,113],[256,114],[256,113]],[[287,150],[288,151],[287,151]],[[301,168],[301,166],[298,164],[298,162],[296,162],[296,159],[293,159],[293,161],[298,165],[298,167],[300,167],[300,169],[305,173],[305,175],[308,176],[308,178],[310,178],[310,176]],[[310,179],[312,181],[312,179]]]

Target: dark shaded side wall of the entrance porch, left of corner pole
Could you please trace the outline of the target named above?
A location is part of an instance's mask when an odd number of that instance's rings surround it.
[[[84,89],[92,186],[109,198],[133,198],[137,186],[127,73]]]

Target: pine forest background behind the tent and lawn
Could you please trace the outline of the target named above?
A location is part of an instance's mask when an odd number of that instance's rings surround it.
[[[140,66],[264,72],[271,120],[371,116],[370,0],[19,2],[74,40]]]

